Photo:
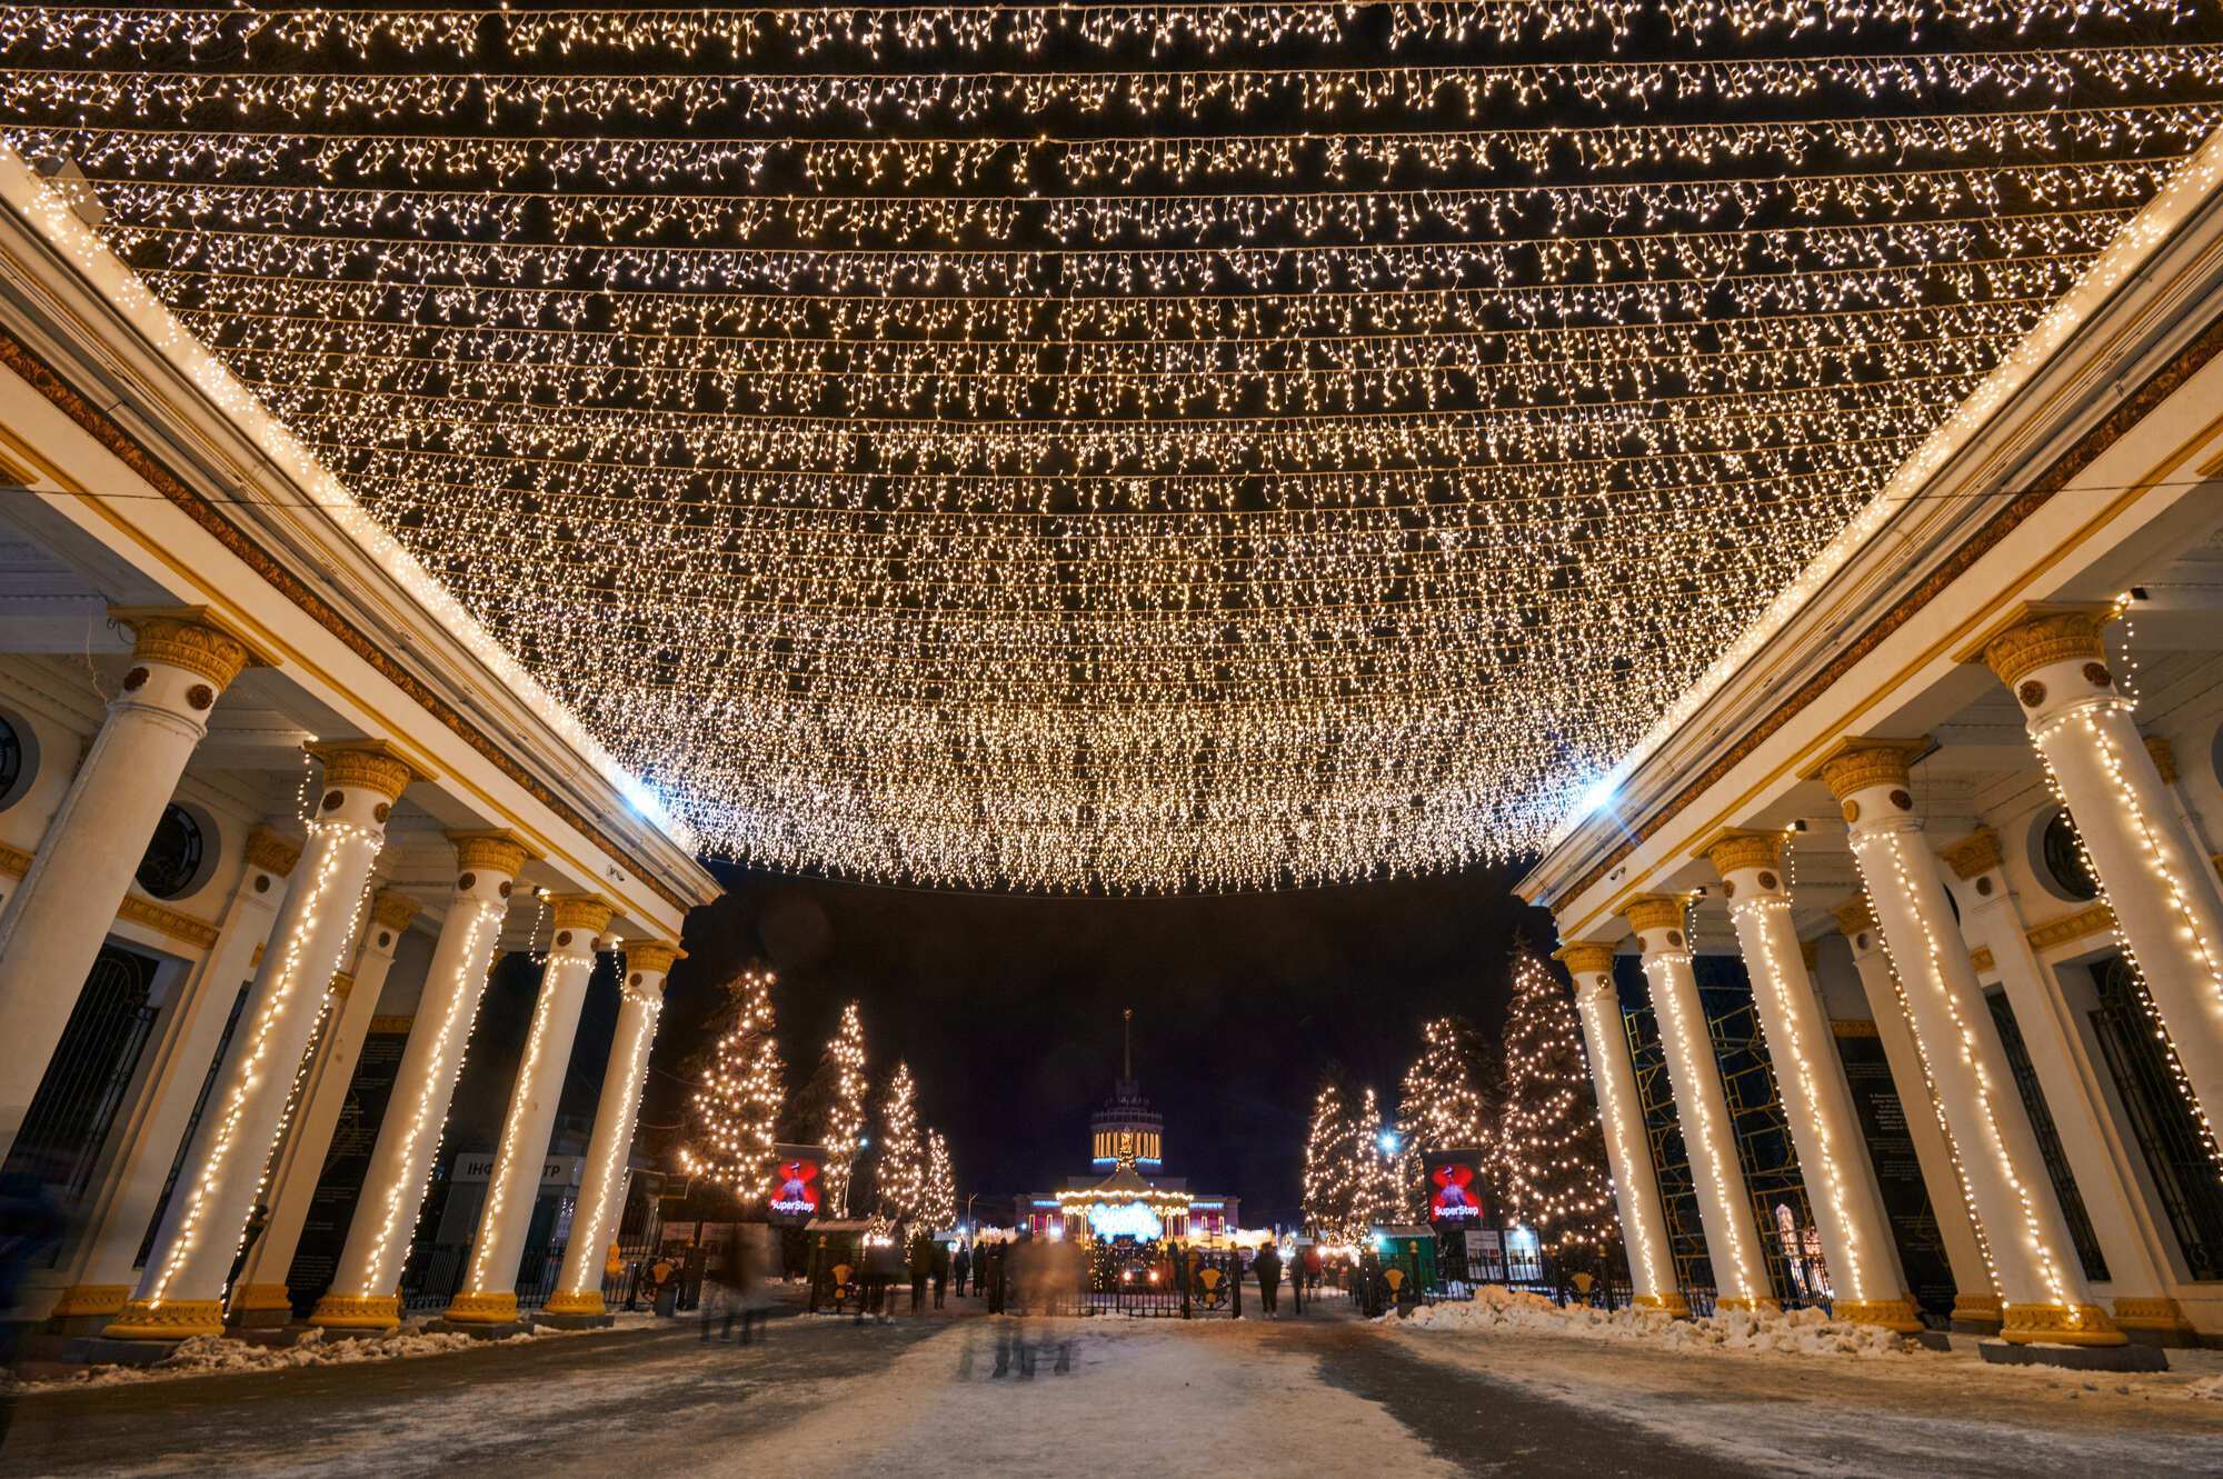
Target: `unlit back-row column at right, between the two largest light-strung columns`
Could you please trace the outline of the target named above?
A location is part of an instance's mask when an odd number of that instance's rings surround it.
[[[2123,1146],[2105,1124],[2096,1066],[2083,1053],[2061,984],[2030,948],[2023,913],[2007,891],[1998,835],[1981,828],[1938,857],[1961,879],[1961,933],[1970,946],[1992,955],[2014,1024],[2023,1030],[2030,1068],[2038,1075],[2038,1090],[2061,1135],[2061,1155],[2076,1177],[2101,1257],[2107,1259],[2114,1324],[2123,1330],[2190,1332],[2192,1326],[2170,1297],[2163,1255],[2141,1226],[2132,1190],[2136,1179],[2127,1175]]]

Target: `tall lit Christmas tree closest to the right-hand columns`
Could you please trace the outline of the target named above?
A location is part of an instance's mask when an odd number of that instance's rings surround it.
[[[1545,1252],[1603,1252],[1618,1221],[1583,1033],[1567,988],[1529,950],[1514,955],[1498,1124],[1512,1217]]]

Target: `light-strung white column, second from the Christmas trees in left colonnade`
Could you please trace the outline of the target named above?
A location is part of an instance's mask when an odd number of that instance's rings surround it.
[[[487,1208],[478,1215],[478,1232],[471,1237],[471,1264],[465,1270],[462,1292],[442,1315],[453,1324],[502,1326],[518,1317],[525,1230],[540,1195],[549,1133],[556,1128],[556,1101],[562,1097],[562,1075],[571,1066],[578,1010],[587,1002],[587,977],[594,975],[594,944],[609,928],[614,913],[607,902],[578,893],[558,895],[549,908],[556,915],[556,944],[540,973],[540,999],[534,1002],[525,1062],[509,1093],[502,1144],[494,1155],[494,1177],[487,1181]]]

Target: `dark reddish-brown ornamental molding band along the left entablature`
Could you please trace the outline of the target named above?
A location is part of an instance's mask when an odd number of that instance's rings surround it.
[[[44,395],[62,415],[76,422],[89,437],[100,442],[118,462],[138,473],[156,493],[173,502],[187,517],[200,524],[218,544],[222,544],[231,555],[236,555],[247,569],[260,575],[271,588],[293,602],[311,622],[322,626],[327,633],[340,640],[349,653],[362,660],[373,673],[385,677],[389,684],[400,688],[409,700],[438,720],[449,733],[469,744],[478,755],[522,788],[529,797],[547,806],[551,813],[565,819],[567,826],[578,831],[582,837],[591,837],[598,848],[611,857],[627,864],[629,873],[640,879],[656,897],[660,897],[671,908],[687,913],[694,904],[676,888],[656,877],[649,864],[634,857],[631,851],[620,846],[609,833],[596,826],[591,819],[580,815],[576,806],[565,802],[560,795],[549,791],[538,777],[531,775],[505,746],[496,744],[491,735],[471,724],[453,704],[433,693],[422,680],[418,680],[409,668],[385,653],[376,642],[371,642],[353,622],[342,617],[322,595],[311,591],[291,571],[287,571],[269,551],[265,551],[256,540],[218,513],[216,504],[196,493],[182,477],[169,471],[169,466],[140,446],[138,437],[122,429],[96,404],[84,400],[73,384],[69,384],[60,373],[53,371],[44,360],[40,360],[22,340],[18,340],[7,329],[0,329],[0,366],[7,366],[20,375],[33,391]]]

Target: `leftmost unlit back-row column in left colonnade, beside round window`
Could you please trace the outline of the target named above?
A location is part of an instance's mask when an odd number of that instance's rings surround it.
[[[71,1284],[51,1310],[56,1319],[98,1319],[104,1326],[131,1297],[147,1224],[162,1199],[162,1184],[209,1077],[225,1022],[231,1019],[231,1002],[253,973],[256,950],[271,935],[285,879],[298,862],[300,848],[278,833],[258,826],[247,835],[247,873],[231,895],[209,959],[185,984],[169,1013],[160,1057],[147,1073],[147,1090],[118,1133],[116,1161],[87,1206],[84,1237],[69,1255],[76,1266]],[[80,1332],[69,1326],[64,1330]]]

